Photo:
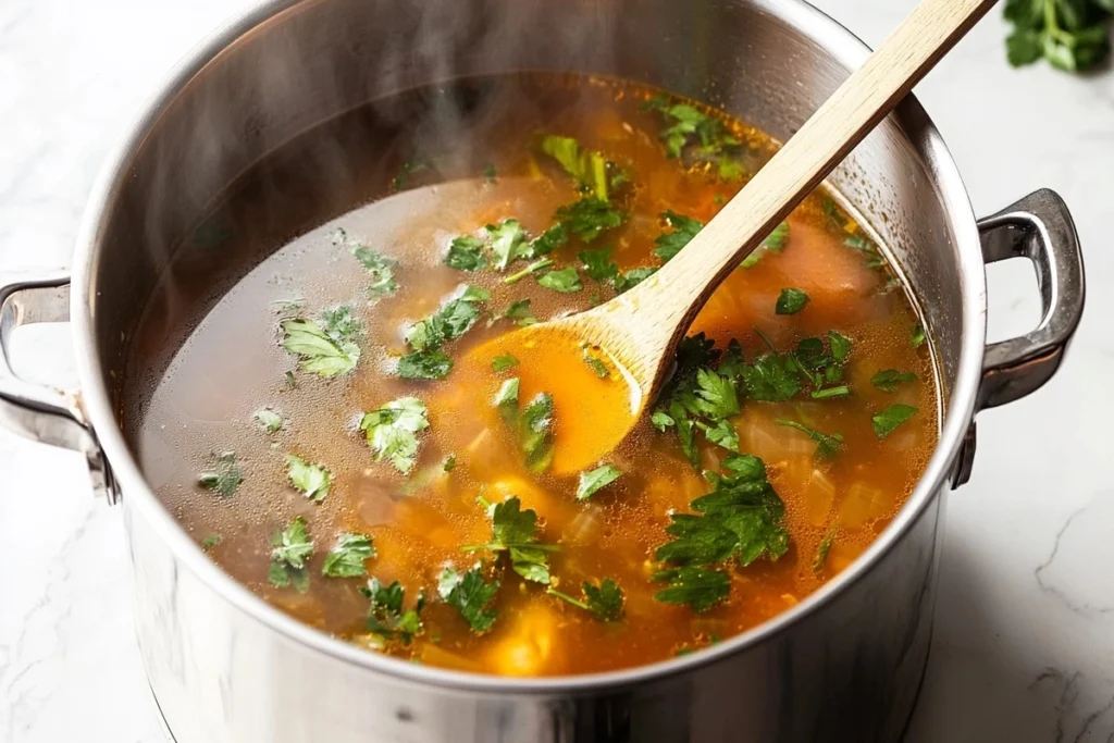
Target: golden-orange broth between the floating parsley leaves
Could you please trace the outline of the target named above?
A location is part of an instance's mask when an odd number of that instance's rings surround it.
[[[213,265],[194,260],[172,271],[175,280],[156,293],[139,329],[130,372],[131,383],[144,393],[126,417],[146,477],[213,559],[271,604],[322,630],[431,665],[509,675],[622,668],[726,638],[790,608],[877,537],[912,491],[936,444],[934,369],[927,344],[915,348],[910,342],[918,317],[909,299],[885,266],[869,265],[864,258],[870,255],[846,244],[849,236],[862,237],[862,229],[822,193],[790,216],[781,253],[768,252],[723,283],[692,333],[705,333],[720,348],[737,339],[746,360],[753,361],[765,343],[755,329],[780,351],[792,350],[802,338],[837,331],[852,341],[843,369],[851,393],[814,400],[805,392],[788,402],[741,395],[742,411],[731,423],[740,450],[764,460],[784,502],[789,550],[776,560],[730,565],[730,596],[709,610],[657,600],[663,584],[653,577],[661,567],[654,553],[671,539],[664,530],[670,515],[690,511],[691,501],[712,490],[709,481],[685,459],[676,436],[658,432],[645,420],[607,459],[623,475],[589,499],[577,500],[576,475],[557,475],[564,469],[561,458],[586,437],[603,436],[629,410],[618,370],[605,365],[607,377],[602,378],[575,352],[516,348],[511,352],[518,365],[496,373],[490,359],[506,349],[481,350],[486,343],[502,343],[497,339],[516,327],[502,317],[515,301],[529,299],[529,313],[544,321],[606,301],[614,290],[583,270],[583,289],[573,293],[541,286],[536,275],[508,284],[504,280],[528,261],[506,273],[490,266],[463,272],[444,265],[444,251],[455,236],[475,235],[483,225],[508,217],[539,235],[553,224],[555,209],[579,198],[576,180],[539,154],[539,133],[575,137],[629,174],[624,192],[628,217],[588,246],[613,247],[610,257],[619,271],[661,264],[653,250],[655,239],[670,232],[663,211],[706,223],[744,179],[725,180],[712,167],[685,166],[667,157],[658,138],[661,114],[641,106],[653,91],[535,75],[489,80],[478,89],[481,104],[468,109],[471,118],[465,116],[463,124],[426,143],[429,158],[440,165],[433,170],[408,168],[410,180],[398,184],[401,193],[302,231],[254,267],[245,260],[244,275],[226,292],[216,291],[221,286],[212,278],[213,266],[231,257],[213,260]],[[365,114],[350,118],[360,116]],[[760,131],[734,120],[723,123],[742,143],[739,157],[750,170],[772,153],[772,143]],[[420,140],[422,127],[413,130]],[[375,149],[367,144],[370,138],[344,150],[352,158],[351,172],[383,176],[388,163],[397,174],[400,153],[413,151],[394,144]],[[437,182],[441,185],[436,189],[405,190]],[[314,214],[340,214],[354,203],[387,196],[385,177],[353,177],[353,184],[348,198],[356,202],[291,198],[291,211],[302,209],[312,219]],[[281,190],[272,182],[266,188]],[[252,205],[251,194],[258,193],[257,184],[244,185],[217,211],[238,215],[234,221],[240,223],[282,222]],[[229,232],[222,238],[229,254],[237,242],[256,244],[242,251],[246,253],[265,253],[286,242],[277,227]],[[248,238],[248,233],[254,236]],[[398,261],[394,293],[369,301],[369,273],[353,257],[354,244]],[[862,246],[861,241],[853,244]],[[573,239],[557,248],[549,256],[554,268],[578,266],[577,251],[584,247]],[[456,362],[452,372],[443,381],[393,375],[398,356],[410,351],[403,329],[434,312],[465,283],[490,297],[482,302],[483,317],[444,345]],[[803,311],[775,314],[785,287],[809,295]],[[290,300],[297,300],[300,307],[283,304]],[[316,317],[340,304],[350,305],[363,325],[354,371],[333,379],[300,371],[297,358],[281,343],[281,323],[295,315]],[[186,342],[169,356],[166,346],[176,333]],[[917,380],[893,391],[876,388],[872,375],[887,369],[913,372]],[[524,405],[541,392],[599,405],[599,429],[563,429],[558,407],[553,467],[531,471],[512,427],[492,404],[511,377],[520,379]],[[389,461],[374,460],[359,423],[364,412],[408,395],[424,403],[429,427],[418,432],[417,461],[403,476]],[[895,403],[919,412],[879,438],[871,416]],[[268,433],[253,420],[262,407],[281,413],[281,430]],[[807,433],[776,419],[839,432],[841,450],[819,457]],[[213,466],[214,452],[225,451],[235,452],[243,481],[222,497],[201,487],[198,473]],[[314,502],[292,487],[290,453],[329,469],[328,497]],[[717,469],[730,453],[702,440],[701,466]],[[446,471],[450,454],[456,466]],[[541,526],[538,540],[556,547],[548,553],[551,587],[582,598],[582,581],[610,578],[624,593],[622,620],[599,620],[545,586],[522,579],[506,555],[463,551],[491,540],[491,520],[478,497],[490,504],[517,497],[522,509],[534,509]],[[304,593],[268,581],[272,537],[295,517],[304,518],[314,546]],[[384,642],[381,634],[369,632],[369,600],[360,592],[367,577],[322,575],[326,554],[343,531],[371,537],[375,556],[364,563],[368,576],[384,585],[398,580],[405,588],[408,608],[424,592],[423,626],[412,642]],[[822,542],[830,551],[820,559]],[[477,561],[482,561],[488,581],[500,581],[488,607],[497,617],[482,634],[437,589],[446,565],[463,571]]]

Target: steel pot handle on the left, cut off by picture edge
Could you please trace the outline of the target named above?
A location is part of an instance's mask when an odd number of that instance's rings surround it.
[[[68,271],[35,275],[0,273],[0,426],[27,437],[85,454],[92,487],[109,502],[118,489],[76,390],[27,382],[12,371],[11,333],[20,325],[69,321]]]

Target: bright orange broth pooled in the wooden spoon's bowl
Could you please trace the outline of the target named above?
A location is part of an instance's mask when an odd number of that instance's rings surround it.
[[[496,373],[492,360],[507,354],[518,364]],[[574,335],[545,327],[528,327],[482,343],[453,373],[461,388],[487,391],[468,400],[468,408],[470,414],[492,424],[499,422],[494,400],[504,381],[518,378],[519,409],[549,393],[554,400],[549,472],[557,476],[576,473],[605,459],[626,438],[642,407],[638,385],[613,356],[586,346]]]

